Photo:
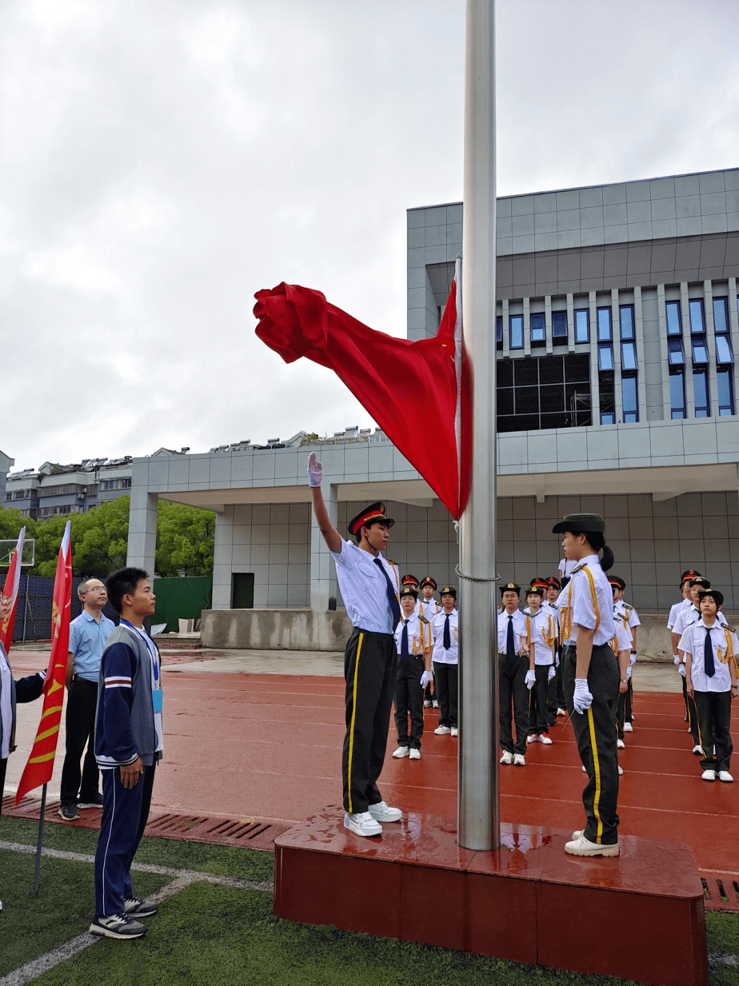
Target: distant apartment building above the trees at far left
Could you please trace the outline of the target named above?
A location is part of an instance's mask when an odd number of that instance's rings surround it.
[[[6,457],[7,458],[7,457]],[[13,464],[13,459],[7,459]],[[37,469],[5,473],[0,453],[2,502],[24,517],[45,520],[67,514],[84,514],[106,500],[116,500],[131,488],[131,457],[89,458],[62,465],[44,462]]]

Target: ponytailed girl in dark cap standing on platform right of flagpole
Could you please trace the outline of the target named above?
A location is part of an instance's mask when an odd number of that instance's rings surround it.
[[[613,594],[605,576],[613,565],[613,552],[605,542],[605,525],[598,514],[571,514],[552,532],[564,535],[565,557],[576,562],[558,602],[565,697],[587,773],[582,792],[585,827],[572,832],[565,852],[618,856],[619,763],[614,722],[621,672],[609,646],[616,629]]]

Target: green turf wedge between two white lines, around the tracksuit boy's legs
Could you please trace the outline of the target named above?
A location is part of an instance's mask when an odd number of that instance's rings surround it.
[[[44,951],[88,931],[95,913],[93,867],[70,860],[41,860],[37,896],[35,858],[0,850],[0,976]],[[136,877],[141,896],[153,893],[169,877],[142,873]]]

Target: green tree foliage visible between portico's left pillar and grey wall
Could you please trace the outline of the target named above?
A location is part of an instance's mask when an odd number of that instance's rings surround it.
[[[211,510],[160,500],[157,514],[157,575],[212,575],[216,515]]]

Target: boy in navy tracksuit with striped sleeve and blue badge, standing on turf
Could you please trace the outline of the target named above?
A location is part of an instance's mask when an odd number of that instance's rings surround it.
[[[114,572],[107,598],[120,614],[101,656],[95,755],[102,777],[101,833],[95,855],[94,935],[141,938],[138,918],[157,905],[137,897],[131,864],[144,834],[157,761],[162,758],[162,679],[157,645],[144,629],[156,597],[140,568]]]

